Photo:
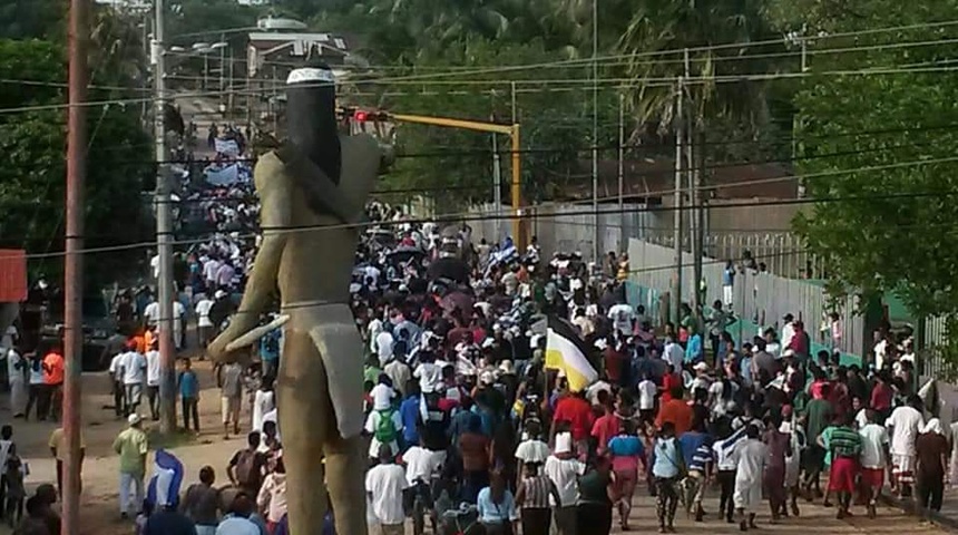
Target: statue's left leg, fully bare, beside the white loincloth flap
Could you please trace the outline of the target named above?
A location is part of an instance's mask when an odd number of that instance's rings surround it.
[[[325,369],[309,333],[285,331],[276,395],[290,534],[312,535],[326,515],[323,445],[335,430],[335,415]]]

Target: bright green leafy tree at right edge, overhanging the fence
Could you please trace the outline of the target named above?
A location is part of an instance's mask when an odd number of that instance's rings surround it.
[[[958,208],[950,196],[958,187],[958,82],[947,70],[958,29],[925,25],[955,20],[958,2],[858,0],[824,9],[802,1],[791,8],[813,16],[802,20],[814,54],[813,76],[795,98],[802,117],[798,169],[813,175],[804,187],[820,201],[796,218],[795,230],[827,259],[832,294],[896,292],[919,317],[946,317],[956,346]],[[780,17],[801,31],[793,11]],[[822,37],[861,30],[868,31]],[[958,361],[955,349],[951,362]]]

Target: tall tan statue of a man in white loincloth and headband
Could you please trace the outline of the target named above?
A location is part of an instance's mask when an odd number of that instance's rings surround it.
[[[365,535],[363,350],[349,285],[355,223],[381,150],[371,136],[339,136],[329,68],[294,70],[286,84],[289,140],[254,171],[263,241],[240,310],[208,353],[217,362],[242,359],[227,344],[256,327],[278,286],[289,317],[276,395],[290,533],[316,533],[329,489],[336,533]]]

